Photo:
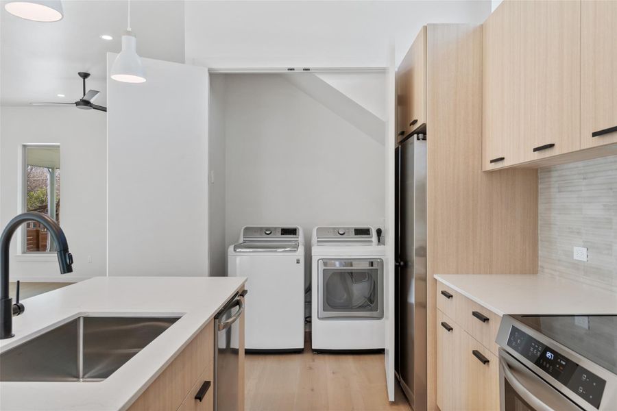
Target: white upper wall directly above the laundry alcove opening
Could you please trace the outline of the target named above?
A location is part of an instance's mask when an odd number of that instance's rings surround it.
[[[384,67],[426,23],[483,23],[491,1],[186,1],[186,62],[208,67]]]

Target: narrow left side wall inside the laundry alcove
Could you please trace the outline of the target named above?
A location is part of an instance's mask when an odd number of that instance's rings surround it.
[[[208,243],[210,275],[226,275],[226,162],[225,162],[225,84],[226,75],[210,75],[208,108]]]

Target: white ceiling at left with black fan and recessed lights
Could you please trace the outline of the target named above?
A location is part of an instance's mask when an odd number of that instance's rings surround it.
[[[64,18],[56,23],[18,18],[1,3],[1,105],[76,101],[82,97],[78,71],[91,73],[86,90],[99,90],[95,103],[106,105],[106,53],[121,48],[126,1],[64,0]],[[184,62],[184,1],[132,1],[131,25],[140,55]]]

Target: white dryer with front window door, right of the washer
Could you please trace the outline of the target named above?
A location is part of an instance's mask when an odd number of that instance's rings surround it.
[[[313,351],[384,349],[385,247],[373,227],[315,227],[311,253]]]

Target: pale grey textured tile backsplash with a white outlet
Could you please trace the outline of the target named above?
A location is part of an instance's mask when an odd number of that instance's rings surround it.
[[[617,155],[540,169],[538,273],[617,292]],[[587,247],[588,261],[572,247]]]

